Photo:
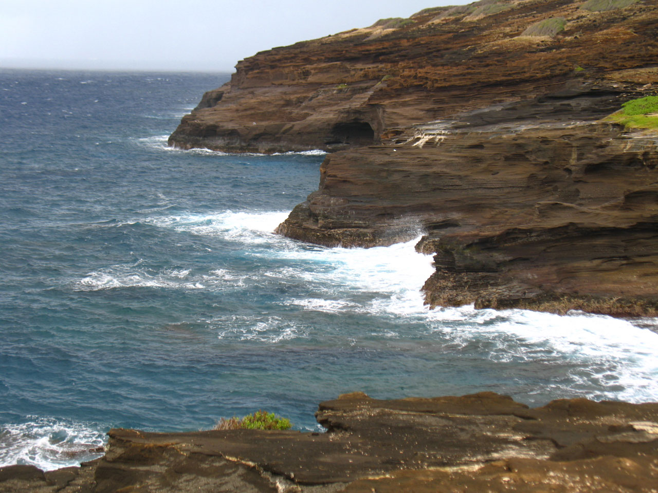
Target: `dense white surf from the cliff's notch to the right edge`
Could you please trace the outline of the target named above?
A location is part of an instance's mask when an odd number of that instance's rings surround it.
[[[434,271],[432,257],[417,253],[415,243],[368,249],[282,248],[260,254],[307,261],[288,274],[316,283],[318,294],[325,294],[291,298],[284,302],[289,306],[403,318],[424,327],[428,337],[440,337],[456,348],[480,341],[494,363],[565,365],[570,368],[565,370],[570,387],[556,388],[555,394],[658,400],[658,334],[628,320],[580,312],[559,316],[473,306],[429,310],[420,288]],[[309,268],[308,261],[318,268]],[[394,332],[380,335],[401,337]]]

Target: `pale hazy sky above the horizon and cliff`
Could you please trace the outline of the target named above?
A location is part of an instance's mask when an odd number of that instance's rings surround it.
[[[464,0],[0,0],[0,66],[207,70]]]

